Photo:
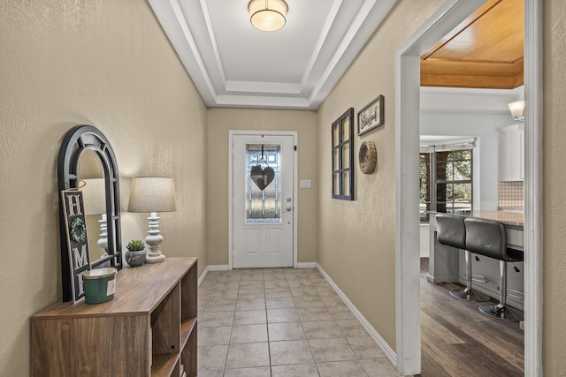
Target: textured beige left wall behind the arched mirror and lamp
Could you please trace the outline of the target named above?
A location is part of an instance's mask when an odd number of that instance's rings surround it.
[[[162,249],[206,266],[206,108],[143,1],[0,2],[0,375],[29,371],[29,317],[61,298],[57,151],[76,124],[111,141],[121,175],[175,179]],[[125,198],[126,196],[126,198]],[[126,214],[123,240],[147,215]]]

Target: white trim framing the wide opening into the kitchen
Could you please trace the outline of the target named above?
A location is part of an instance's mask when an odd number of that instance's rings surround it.
[[[395,322],[397,371],[403,375],[421,372],[419,57],[483,3],[485,0],[447,0],[395,54]],[[524,4],[524,375],[539,376],[542,375],[542,1],[524,0]]]

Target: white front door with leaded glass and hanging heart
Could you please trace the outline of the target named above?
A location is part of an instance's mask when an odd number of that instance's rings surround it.
[[[232,141],[233,268],[293,267],[294,136]]]

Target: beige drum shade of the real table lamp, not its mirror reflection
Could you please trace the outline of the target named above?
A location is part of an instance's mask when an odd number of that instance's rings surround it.
[[[130,189],[128,212],[172,212],[177,210],[173,179],[167,177],[134,177]]]

